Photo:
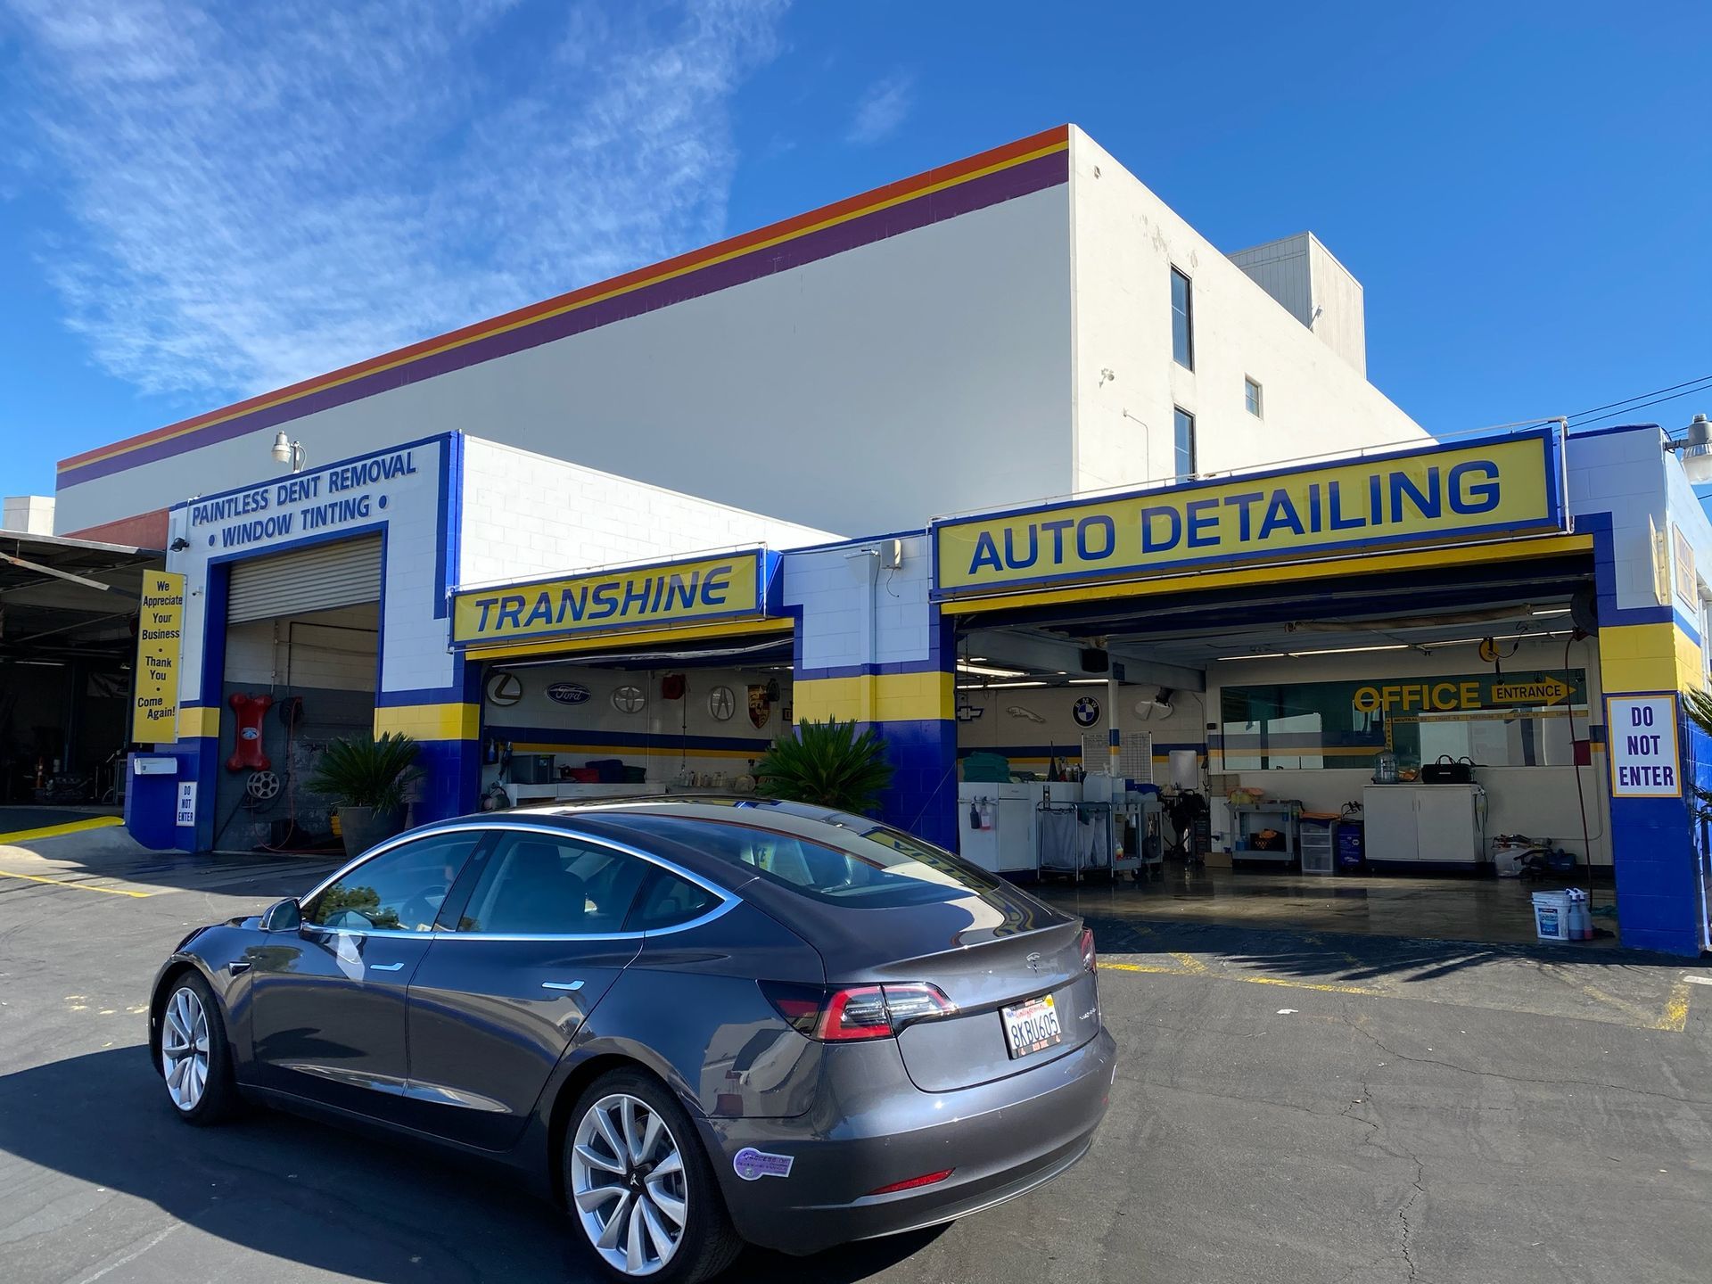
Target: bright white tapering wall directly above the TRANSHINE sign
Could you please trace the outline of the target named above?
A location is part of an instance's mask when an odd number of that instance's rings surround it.
[[[782,550],[835,538],[502,442],[464,438],[461,586],[738,544]]]

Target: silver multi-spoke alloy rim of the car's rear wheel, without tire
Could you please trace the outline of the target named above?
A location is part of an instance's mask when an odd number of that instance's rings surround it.
[[[663,1270],[683,1243],[683,1154],[666,1120],[628,1092],[601,1097],[577,1123],[570,1195],[594,1251],[625,1275]]]

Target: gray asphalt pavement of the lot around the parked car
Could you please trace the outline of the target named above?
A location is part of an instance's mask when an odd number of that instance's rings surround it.
[[[562,1217],[431,1150],[259,1111],[187,1128],[144,1002],[294,858],[0,846],[0,1279],[587,1281]],[[952,1228],[733,1281],[1709,1275],[1712,967],[1601,950],[1103,924],[1121,1065],[1077,1168]]]

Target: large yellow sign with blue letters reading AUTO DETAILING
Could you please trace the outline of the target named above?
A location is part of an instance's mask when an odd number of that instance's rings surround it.
[[[1563,529],[1551,430],[935,526],[943,596]]]

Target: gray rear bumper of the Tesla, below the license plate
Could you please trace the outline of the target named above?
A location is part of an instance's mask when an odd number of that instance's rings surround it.
[[[1087,1152],[1106,1115],[1116,1051],[1103,1029],[1008,1079],[921,1092],[902,1073],[897,1044],[885,1041],[846,1058],[842,1073],[829,1070],[827,1111],[702,1126],[738,1233],[784,1253],[818,1253],[964,1217],[1063,1173]],[[743,1150],[789,1159],[789,1174],[740,1178]],[[954,1171],[930,1186],[866,1193],[943,1169]]]

